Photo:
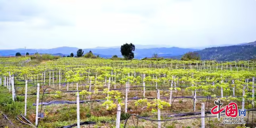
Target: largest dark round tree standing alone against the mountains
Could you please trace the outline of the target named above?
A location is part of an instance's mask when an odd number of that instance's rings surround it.
[[[132,51],[135,50],[135,46],[130,44],[124,44],[121,46],[121,53],[126,60],[132,60],[134,58],[134,53]]]

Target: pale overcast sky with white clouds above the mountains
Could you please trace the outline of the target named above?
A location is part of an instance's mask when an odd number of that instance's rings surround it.
[[[0,0],[0,49],[256,40],[256,0]]]

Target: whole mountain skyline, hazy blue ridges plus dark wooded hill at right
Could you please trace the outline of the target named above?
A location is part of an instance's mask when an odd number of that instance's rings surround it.
[[[228,46],[222,45],[217,47],[205,48],[179,48],[168,45],[135,45],[134,58],[142,59],[151,57],[153,53],[157,53],[159,57],[180,59],[187,52],[197,52],[202,60],[249,60],[256,58],[256,41],[251,43],[242,43],[238,45]],[[12,49],[0,50],[0,56],[15,56],[15,53],[20,52],[25,55],[34,53],[48,53],[53,55],[67,56],[70,53],[76,54],[79,48],[76,47],[57,47],[52,49]],[[83,49],[84,53],[92,51],[95,55],[100,55],[103,58],[111,58],[113,55],[122,57],[120,46],[113,47],[96,47]]]

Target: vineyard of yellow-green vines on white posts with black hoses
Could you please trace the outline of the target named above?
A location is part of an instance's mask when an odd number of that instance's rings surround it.
[[[0,58],[0,127],[256,126],[254,61],[30,61]],[[246,109],[246,124],[211,114],[218,99]]]

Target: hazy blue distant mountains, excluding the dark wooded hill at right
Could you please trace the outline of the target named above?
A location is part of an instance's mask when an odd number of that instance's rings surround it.
[[[142,49],[144,47],[144,49]],[[153,47],[153,48],[152,48]],[[192,49],[192,48],[179,48],[179,47],[161,47],[161,45],[136,45],[134,51],[134,57],[137,59],[141,59],[144,57],[151,57],[153,53],[158,53],[159,56],[176,56],[182,55],[189,51],[197,51],[199,49]],[[28,52],[29,54],[33,53],[48,53],[48,54],[57,54],[57,55],[69,55],[70,53],[76,54],[78,48],[76,47],[58,47],[52,49],[12,49],[12,50],[0,50],[1,56],[15,56],[17,52],[24,54]],[[111,58],[113,55],[117,55],[118,57],[122,57],[120,52],[120,47],[97,47],[91,49],[83,49],[84,53],[92,51],[93,54],[100,55],[103,58]]]

